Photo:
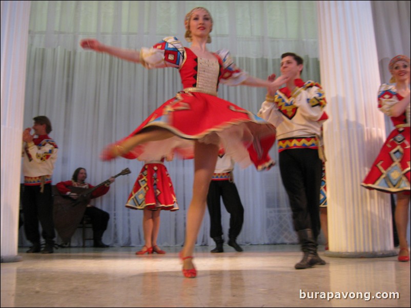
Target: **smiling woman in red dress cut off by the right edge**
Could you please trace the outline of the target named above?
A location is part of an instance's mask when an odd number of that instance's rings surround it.
[[[400,252],[398,260],[409,261],[407,243],[408,207],[410,200],[409,155],[410,155],[410,104],[409,104],[409,58],[395,56],[388,65],[393,75],[390,82],[382,84],[378,93],[378,108],[391,117],[394,130],[375,160],[362,186],[387,193],[397,194],[395,223],[397,226]]]

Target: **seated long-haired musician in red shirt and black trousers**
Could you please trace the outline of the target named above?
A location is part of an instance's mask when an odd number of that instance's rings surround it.
[[[71,187],[80,187],[80,188],[93,188],[93,185],[85,182],[87,179],[87,171],[85,168],[79,167],[77,168],[74,173],[71,181],[63,181],[56,184],[58,191],[63,195],[68,195],[72,199],[77,199],[78,194],[71,191]],[[97,198],[106,194],[110,189],[110,184],[114,182],[114,178],[111,177],[107,180],[107,183],[98,187],[91,193],[91,199]],[[104,231],[107,229],[107,223],[110,219],[109,213],[96,208],[93,205],[87,205],[85,215],[91,218],[91,224],[93,225],[93,239],[94,239],[94,247],[105,248],[109,247],[109,245],[104,244],[101,241],[102,235]]]

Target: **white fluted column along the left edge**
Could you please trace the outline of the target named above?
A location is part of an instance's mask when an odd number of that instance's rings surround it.
[[[1,261],[17,255],[23,110],[30,1],[1,2]]]

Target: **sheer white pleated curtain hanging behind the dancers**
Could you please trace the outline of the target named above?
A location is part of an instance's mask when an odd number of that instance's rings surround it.
[[[409,1],[372,4],[384,72],[392,56],[409,55]],[[118,177],[107,195],[94,201],[111,216],[104,236],[108,244],[143,243],[141,211],[124,207],[142,163],[125,159],[101,162],[99,153],[105,145],[128,135],[181,86],[174,69],[148,71],[138,64],[81,50],[78,43],[81,38],[93,37],[138,50],[174,35],[188,46],[183,39],[183,19],[198,6],[209,9],[214,20],[209,49],[230,49],[244,71],[259,78],[278,74],[280,55],[292,51],[304,58],[302,78],[320,80],[314,1],[32,1],[24,125],[31,126],[37,115],[52,121],[50,135],[60,148],[53,184],[69,180],[79,166],[88,170],[93,185],[126,167],[132,170],[132,174]],[[265,90],[222,85],[219,95],[257,113]],[[276,147],[271,153],[276,159]],[[161,213],[158,242],[181,245],[192,194],[193,162],[175,160],[167,167],[180,210]],[[262,173],[252,167],[237,168],[234,174],[245,208],[239,243],[295,243],[278,167]],[[227,234],[229,215],[222,212]],[[27,244],[21,231],[19,243]],[[73,238],[73,245],[79,244],[78,237]],[[206,213],[197,244],[211,242]]]

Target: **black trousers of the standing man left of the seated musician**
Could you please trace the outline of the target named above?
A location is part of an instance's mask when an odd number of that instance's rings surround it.
[[[40,185],[24,186],[23,191],[23,215],[26,237],[31,243],[40,242],[38,222],[42,226],[42,236],[50,243],[54,241],[53,223],[53,196],[51,184],[44,185],[44,191],[40,192]]]

